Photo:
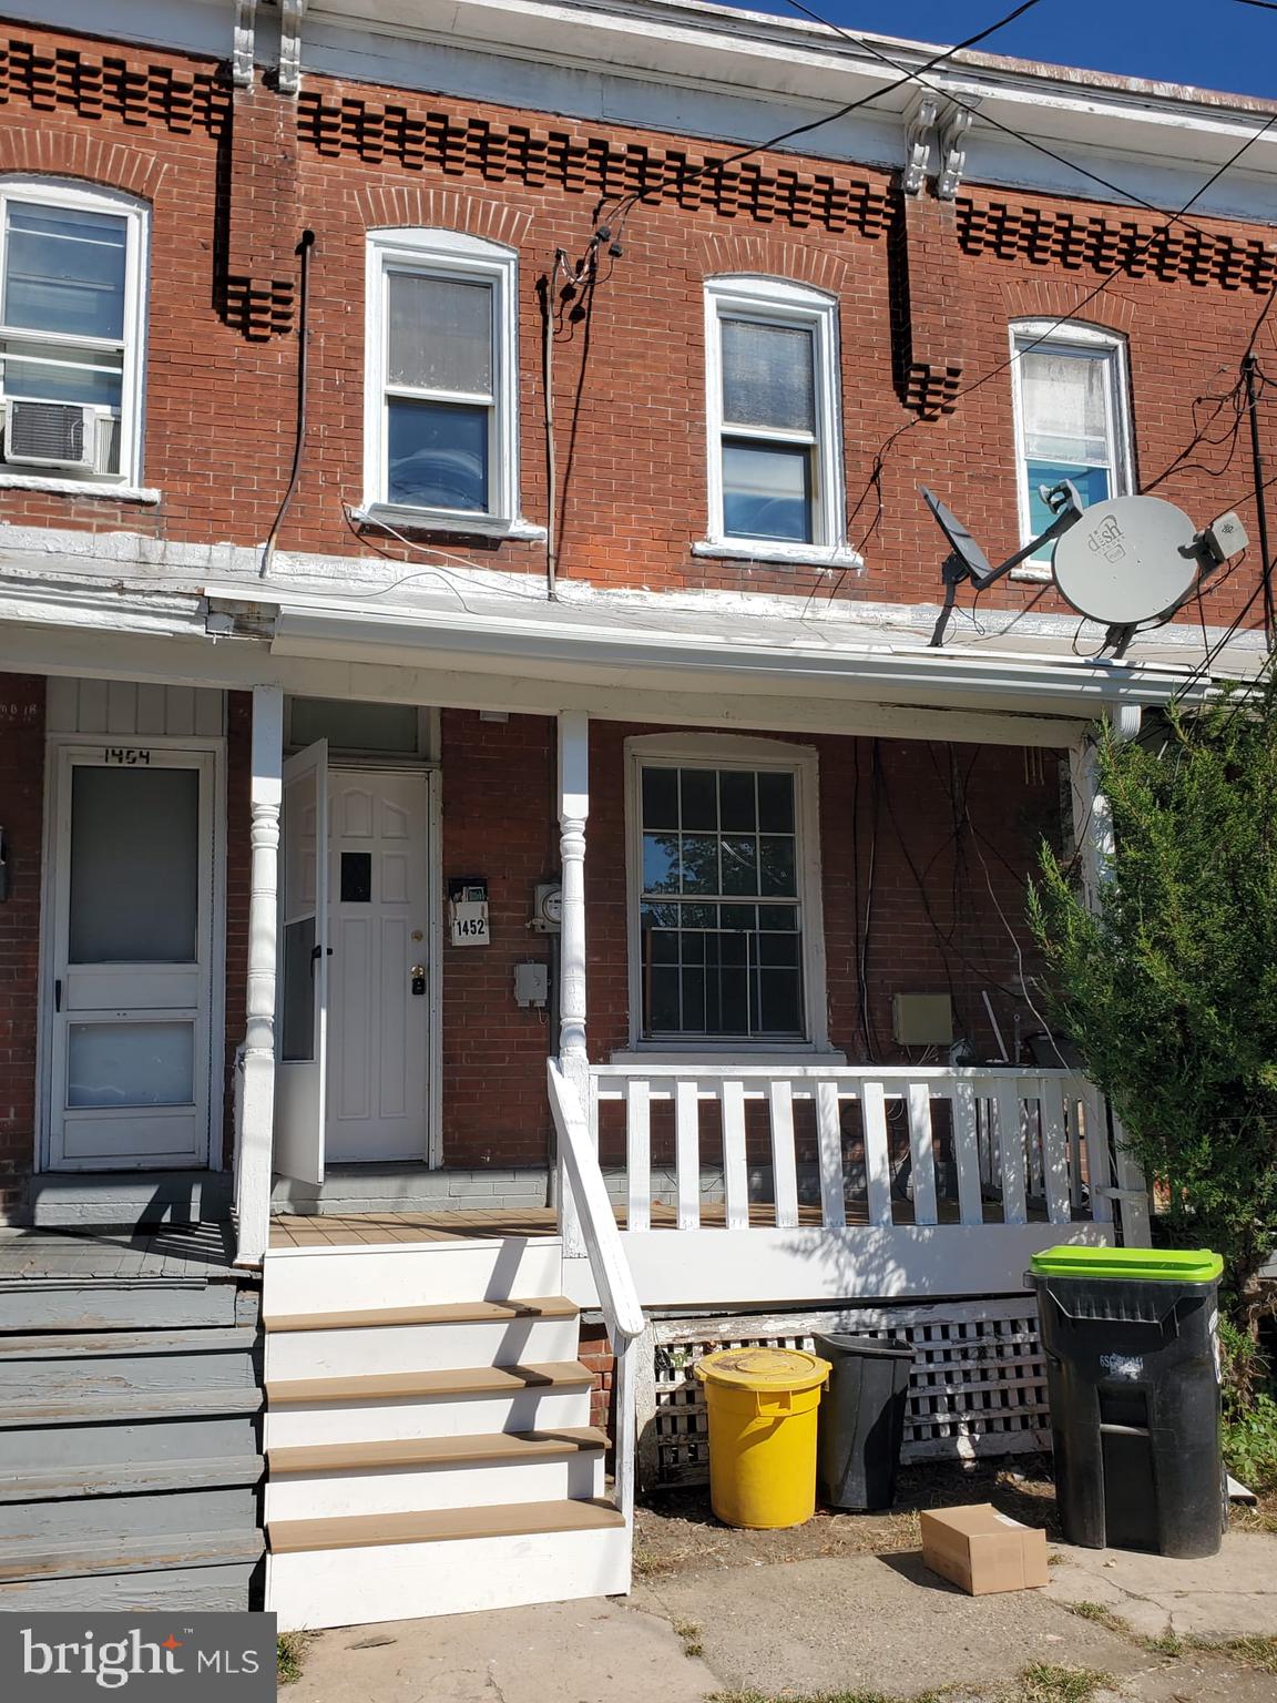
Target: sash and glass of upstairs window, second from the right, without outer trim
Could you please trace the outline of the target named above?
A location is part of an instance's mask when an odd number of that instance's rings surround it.
[[[727,538],[817,543],[817,327],[722,307],[722,528]]]

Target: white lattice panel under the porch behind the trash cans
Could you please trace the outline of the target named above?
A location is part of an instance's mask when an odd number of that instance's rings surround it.
[[[1051,1448],[1047,1373],[1032,1296],[936,1306],[657,1320],[652,1373],[640,1388],[640,1453],[649,1488],[705,1483],[705,1395],[691,1368],[712,1349],[758,1344],[810,1349],[839,1330],[914,1350],[906,1463],[976,1459]]]

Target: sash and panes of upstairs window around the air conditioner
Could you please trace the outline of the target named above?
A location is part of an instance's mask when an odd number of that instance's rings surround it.
[[[119,473],[129,220],[3,196],[0,387],[24,402],[102,410],[99,473]]]

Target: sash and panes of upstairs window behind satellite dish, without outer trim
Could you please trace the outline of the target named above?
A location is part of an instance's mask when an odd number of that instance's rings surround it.
[[[1083,507],[1125,489],[1120,439],[1117,351],[1052,339],[1016,339],[1020,359],[1020,458],[1027,487],[1028,535],[1052,521],[1039,494],[1068,479]],[[1051,555],[1051,545],[1040,559]]]

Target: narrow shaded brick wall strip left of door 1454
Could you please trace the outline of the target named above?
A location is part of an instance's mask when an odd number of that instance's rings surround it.
[[[0,1223],[29,1175],[36,1129],[36,978],[44,841],[44,681],[0,679],[0,826],[9,897],[0,903]]]

